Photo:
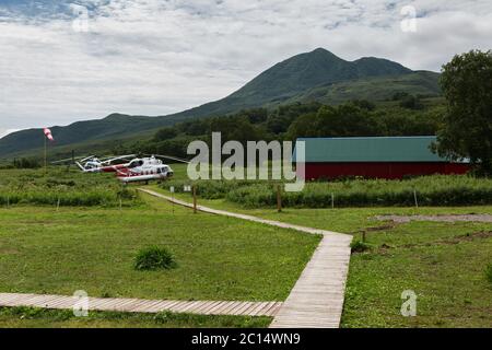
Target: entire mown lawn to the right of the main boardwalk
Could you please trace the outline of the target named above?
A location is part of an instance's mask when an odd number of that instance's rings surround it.
[[[155,188],[154,188],[155,189]],[[183,199],[190,196],[177,195]],[[212,208],[354,234],[367,233],[370,250],[353,254],[345,295],[343,327],[490,327],[492,284],[484,276],[492,262],[492,224],[410,222],[389,225],[377,214],[492,213],[492,207],[244,209],[199,199]],[[418,295],[418,316],[402,317],[401,293]]]

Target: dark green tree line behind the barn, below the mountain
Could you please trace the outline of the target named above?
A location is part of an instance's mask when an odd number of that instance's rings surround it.
[[[211,142],[212,132],[222,140],[243,144],[259,140],[292,140],[303,137],[366,137],[435,135],[442,106],[414,110],[400,106],[377,107],[367,101],[338,106],[317,102],[296,103],[274,109],[251,108],[160,129],[151,140],[115,149],[115,153],[138,152],[186,156],[189,142]]]

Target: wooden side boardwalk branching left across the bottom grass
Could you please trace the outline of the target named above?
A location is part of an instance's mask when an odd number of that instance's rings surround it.
[[[67,295],[0,293],[0,306],[32,306],[44,308],[73,308],[78,298]],[[165,301],[143,299],[87,298],[90,311],[129,313],[186,313],[200,315],[274,316],[281,302],[235,301]]]

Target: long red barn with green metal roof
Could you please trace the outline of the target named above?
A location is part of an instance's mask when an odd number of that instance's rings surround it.
[[[306,138],[306,179],[361,176],[465,174],[468,163],[453,163],[433,153],[436,137]],[[296,159],[297,147],[294,152]],[[297,168],[302,166],[298,160]]]

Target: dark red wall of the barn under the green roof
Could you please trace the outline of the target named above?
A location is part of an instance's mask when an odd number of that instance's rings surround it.
[[[297,168],[301,168],[297,166]],[[468,164],[457,163],[306,163],[306,179],[362,176],[367,178],[402,178],[408,175],[465,174]]]

